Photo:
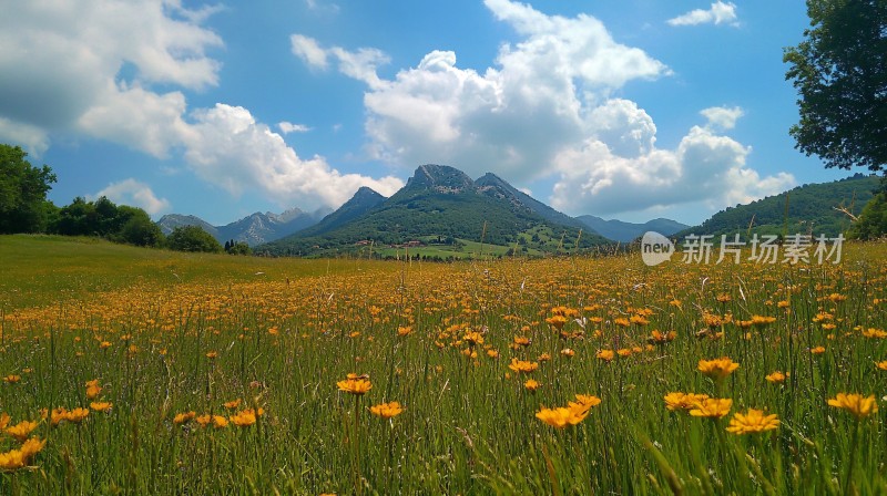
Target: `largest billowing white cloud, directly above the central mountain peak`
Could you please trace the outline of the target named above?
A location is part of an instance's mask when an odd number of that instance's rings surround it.
[[[298,34],[303,48],[294,53],[314,66],[336,58],[343,73],[367,82],[370,156],[409,168],[451,164],[475,176],[492,170],[513,180],[549,173],[561,148],[589,134],[589,104],[629,81],[670,73],[642,50],[614,41],[590,16],[546,16],[504,0],[486,4],[523,39],[502,45],[497,65],[482,72],[459,68],[451,51],[435,50],[394,80],[380,80],[375,68],[387,61],[381,52],[335,46],[312,62],[304,46],[319,44]],[[363,61],[360,71],[349,69],[350,60]]]

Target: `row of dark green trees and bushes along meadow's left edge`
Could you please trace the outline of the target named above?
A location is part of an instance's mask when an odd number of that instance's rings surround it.
[[[47,193],[58,180],[52,169],[34,167],[28,154],[18,146],[0,144],[0,234],[52,234],[91,236],[113,242],[179,251],[251,252],[245,242],[226,242],[223,247],[211,234],[197,226],[176,228],[164,236],[147,213],[129,205],[115,205],[106,197],[94,202],[77,197],[58,207]]]

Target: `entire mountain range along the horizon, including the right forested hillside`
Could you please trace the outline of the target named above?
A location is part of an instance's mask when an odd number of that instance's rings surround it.
[[[390,198],[361,187],[334,211],[255,213],[225,226],[171,214],[157,223],[164,234],[197,225],[220,242],[234,239],[267,255],[324,256],[367,245],[439,247],[458,252],[467,244],[499,246],[502,251],[569,252],[610,241],[630,242],[652,230],[682,238],[689,234],[814,232],[837,236],[847,229],[878,187],[877,176],[857,174],[825,184],[736,205],[689,227],[657,218],[643,224],[604,220],[593,215],[570,217],[514,188],[495,174],[471,179],[446,165],[419,166]],[[326,215],[325,215],[326,214]],[[371,248],[370,248],[371,249]],[[482,248],[481,248],[482,249]]]

